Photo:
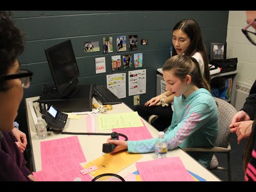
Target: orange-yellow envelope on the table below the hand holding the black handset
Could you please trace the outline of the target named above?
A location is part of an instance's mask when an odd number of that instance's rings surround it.
[[[84,165],[84,169],[92,165],[97,166],[99,169],[90,173],[93,177],[103,173],[117,173],[132,163],[137,162],[141,157],[143,156],[140,154],[129,154],[127,151],[106,154]]]

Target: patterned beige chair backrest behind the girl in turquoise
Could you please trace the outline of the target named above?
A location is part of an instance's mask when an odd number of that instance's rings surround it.
[[[237,110],[227,101],[219,98],[215,98],[218,103],[219,113],[219,133],[215,143],[216,147],[228,147],[230,138],[230,122],[233,116],[237,113]]]

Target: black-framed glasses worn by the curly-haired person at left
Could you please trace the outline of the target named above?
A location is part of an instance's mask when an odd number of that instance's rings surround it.
[[[3,75],[0,76],[0,81],[7,81],[15,78],[19,78],[22,84],[22,87],[27,89],[30,86],[33,73],[26,69],[21,69],[18,74]]]

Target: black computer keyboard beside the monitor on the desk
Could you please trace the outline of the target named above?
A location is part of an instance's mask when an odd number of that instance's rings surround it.
[[[106,85],[94,85],[93,94],[95,99],[98,99],[102,105],[115,105],[122,103],[114,93],[112,93]]]

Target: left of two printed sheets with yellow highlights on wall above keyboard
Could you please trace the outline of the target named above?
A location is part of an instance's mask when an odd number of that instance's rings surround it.
[[[107,87],[119,99],[126,98],[126,74],[118,73],[107,75]]]

